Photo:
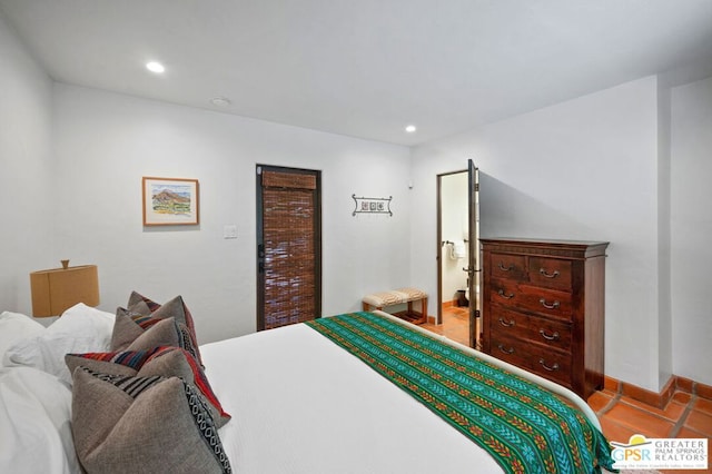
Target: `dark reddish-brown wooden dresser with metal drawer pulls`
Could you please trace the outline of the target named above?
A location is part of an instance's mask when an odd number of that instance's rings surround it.
[[[609,243],[481,241],[483,350],[584,399],[602,388]]]

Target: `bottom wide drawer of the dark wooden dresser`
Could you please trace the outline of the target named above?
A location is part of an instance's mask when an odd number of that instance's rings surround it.
[[[493,334],[492,355],[568,388],[572,387],[570,353]]]

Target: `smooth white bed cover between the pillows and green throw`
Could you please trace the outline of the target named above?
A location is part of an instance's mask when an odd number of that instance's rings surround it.
[[[494,460],[306,325],[200,347],[236,473],[498,473]],[[474,470],[474,471],[473,471]]]

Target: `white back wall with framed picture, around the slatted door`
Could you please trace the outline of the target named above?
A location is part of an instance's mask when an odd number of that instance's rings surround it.
[[[180,294],[201,343],[254,332],[257,164],[323,171],[325,315],[409,283],[407,148],[67,85],[55,97],[53,258],[98,264],[100,307]],[[144,228],[142,176],[197,178],[199,228]],[[393,196],[394,216],[352,216],[352,194]]]

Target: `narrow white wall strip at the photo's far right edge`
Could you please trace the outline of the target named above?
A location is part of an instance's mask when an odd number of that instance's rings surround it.
[[[712,385],[712,78],[672,89],[673,372]]]

